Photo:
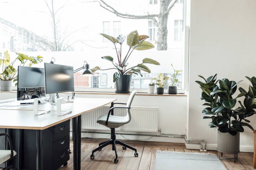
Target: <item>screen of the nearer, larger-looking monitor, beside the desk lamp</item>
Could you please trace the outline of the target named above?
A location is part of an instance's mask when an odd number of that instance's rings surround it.
[[[45,63],[45,93],[74,91],[73,67]]]

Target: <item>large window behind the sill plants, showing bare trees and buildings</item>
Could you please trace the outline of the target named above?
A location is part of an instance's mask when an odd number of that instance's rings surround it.
[[[162,8],[158,0],[148,0],[146,4],[137,3],[136,5],[127,3],[127,0],[108,2],[108,5],[117,9],[118,12],[133,16],[155,14],[156,11]],[[181,3],[182,0],[178,0],[178,2]],[[166,1],[166,3],[169,3],[169,1]],[[153,20],[118,17],[103,8],[105,5],[102,7],[99,3],[54,1],[52,6],[49,0],[12,0],[12,4],[14,5],[8,3],[0,5],[0,11],[5,11],[5,16],[10,16],[9,18],[12,19],[3,18],[7,22],[1,22],[0,25],[0,30],[2,31],[3,29],[2,33],[0,33],[0,51],[2,52],[3,47],[11,50],[9,49],[11,46],[14,52],[21,52],[28,56],[41,55],[44,57],[44,62],[49,62],[54,57],[56,64],[73,66],[76,69],[82,67],[84,60],[86,60],[90,64],[90,68],[99,66],[101,69],[108,69],[113,68],[113,64],[118,63],[117,53],[121,52],[121,59],[124,59],[129,50],[127,35],[137,30],[139,35],[149,36],[146,41],[153,44],[154,48],[143,51],[130,50],[132,54],[128,58],[127,68],[137,66],[144,58],[157,60],[161,66],[145,64],[151,70],[151,73],[142,71],[143,76],[133,74],[132,89],[136,89],[138,92],[147,92],[148,84],[154,82],[152,78],[157,77],[160,73],[165,76],[171,76],[173,72],[171,63],[173,63],[176,70],[184,70],[182,65],[182,43],[175,43],[175,41],[182,40],[182,20],[175,20],[172,17],[182,17],[182,5],[176,5],[175,10],[174,8],[170,10],[168,19],[163,20],[167,24],[166,35],[158,32],[160,30]],[[52,20],[49,18],[50,12],[47,5],[50,9],[53,8],[54,11],[57,11],[63,5],[65,6],[56,13],[55,25],[52,24]],[[30,11],[30,15],[18,12],[20,9]],[[157,17],[156,20],[158,21]],[[54,28],[56,29],[56,35],[54,35]],[[10,39],[11,36],[5,36],[6,34],[10,35],[10,33],[15,35],[13,39]],[[113,37],[123,34],[126,39],[122,49],[118,43],[116,43],[117,51],[113,49],[113,43],[99,35],[99,33],[105,33]],[[161,42],[159,42],[158,37],[161,38]],[[9,43],[7,43],[8,41]],[[102,56],[112,56],[114,63],[101,59]],[[44,67],[44,64],[40,63],[33,65],[33,67]],[[82,71],[79,71],[74,74],[75,89],[76,91],[113,92],[115,88],[113,73],[115,71],[96,71],[91,77],[84,77],[82,76]],[[178,75],[181,82],[178,84],[179,88],[181,88],[182,84],[181,76],[182,72]],[[168,85],[165,86],[165,89],[167,87]]]

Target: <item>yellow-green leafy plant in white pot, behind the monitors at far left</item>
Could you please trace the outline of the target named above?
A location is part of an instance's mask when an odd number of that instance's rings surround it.
[[[15,83],[17,81],[17,69],[14,67],[16,62],[20,62],[19,66],[32,66],[32,64],[37,64],[42,62],[42,56],[31,57],[25,54],[16,53],[17,57],[11,62],[10,55],[8,51],[4,52],[3,59],[1,59],[0,53],[0,68],[2,68],[2,73],[0,74],[0,90],[1,91],[11,91],[12,81]],[[17,83],[15,83],[15,86]]]

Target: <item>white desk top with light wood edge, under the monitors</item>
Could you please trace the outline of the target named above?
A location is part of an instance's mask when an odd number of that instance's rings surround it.
[[[56,106],[49,103],[38,105],[38,110],[52,111],[43,115],[34,115],[33,105],[12,107],[18,105],[17,102],[1,103],[0,106],[5,107],[0,107],[0,128],[44,130],[114,101],[116,99],[76,98],[74,103],[61,105],[62,111],[72,111],[63,116],[57,116]]]

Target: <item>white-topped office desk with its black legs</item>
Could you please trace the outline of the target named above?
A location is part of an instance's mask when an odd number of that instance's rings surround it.
[[[0,128],[31,129],[37,133],[37,170],[42,170],[42,130],[52,127],[72,118],[74,170],[80,170],[81,162],[81,115],[114,102],[116,99],[76,98],[74,103],[62,104],[62,111],[71,110],[72,113],[57,116],[56,106],[53,104],[40,104],[38,110],[51,110],[49,114],[34,115],[33,105],[18,106],[17,102],[1,103]]]

